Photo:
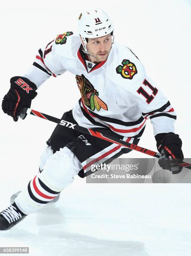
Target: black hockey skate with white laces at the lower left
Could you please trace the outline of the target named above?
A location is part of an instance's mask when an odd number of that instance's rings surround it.
[[[0,212],[0,230],[8,230],[23,220],[26,215],[21,212],[17,205],[13,203],[8,208]]]

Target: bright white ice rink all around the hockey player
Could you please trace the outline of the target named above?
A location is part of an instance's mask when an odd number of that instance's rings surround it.
[[[79,13],[97,6],[113,19],[115,40],[135,52],[173,105],[176,133],[185,158],[191,158],[190,0],[1,3],[0,101],[10,77],[24,74],[41,46],[59,33],[75,31]],[[32,108],[61,117],[79,97],[75,77],[66,73],[39,88]],[[1,211],[38,172],[55,125],[31,115],[15,123],[1,109],[0,123]],[[149,121],[139,144],[156,151]],[[146,157],[138,152],[125,156]],[[30,256],[191,256],[191,186],[86,184],[75,177],[59,202],[0,232],[0,247],[7,246],[27,246]]]

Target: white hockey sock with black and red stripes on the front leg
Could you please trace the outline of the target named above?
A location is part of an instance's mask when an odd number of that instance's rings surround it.
[[[69,148],[60,148],[49,156],[43,171],[15,198],[16,205],[27,215],[40,209],[69,186],[81,168],[80,161]]]

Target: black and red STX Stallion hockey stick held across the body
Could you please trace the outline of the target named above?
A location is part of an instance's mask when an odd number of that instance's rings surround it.
[[[158,152],[149,150],[147,148],[143,148],[141,146],[137,146],[137,145],[132,144],[132,143],[128,143],[126,141],[122,141],[122,140],[120,140],[118,138],[115,138],[115,137],[112,137],[112,136],[109,136],[109,135],[105,135],[103,133],[100,133],[98,131],[94,131],[94,130],[89,129],[89,128],[81,127],[79,125],[67,122],[67,121],[59,119],[59,118],[55,118],[55,117],[53,117],[51,115],[47,115],[47,114],[38,112],[38,111],[33,110],[31,108],[28,108],[25,111],[25,113],[38,116],[39,118],[43,118],[43,119],[49,120],[49,121],[54,122],[54,123],[58,123],[58,124],[63,125],[65,127],[67,127],[67,128],[71,128],[71,129],[74,129],[76,131],[80,131],[82,133],[90,134],[90,135],[92,135],[94,137],[97,137],[97,138],[103,139],[105,141],[109,141],[109,142],[115,143],[115,144],[120,145],[120,146],[125,146],[126,148],[130,148],[130,149],[139,151],[139,152],[147,154],[149,156],[154,156],[156,158],[160,158],[160,156],[162,156],[162,154],[160,154]],[[115,133],[114,133],[114,135],[115,135]],[[191,164],[188,164],[188,163],[183,162],[183,161],[181,163],[177,164],[177,165],[182,166],[182,167],[186,167],[188,169],[191,169]]]

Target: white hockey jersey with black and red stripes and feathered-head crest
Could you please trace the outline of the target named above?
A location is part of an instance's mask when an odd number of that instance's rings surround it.
[[[154,136],[174,132],[175,111],[127,47],[114,42],[107,60],[94,64],[85,58],[79,34],[69,31],[39,49],[23,76],[39,87],[66,71],[75,75],[81,94],[72,110],[80,126],[109,127],[122,136],[139,138],[150,119]]]

